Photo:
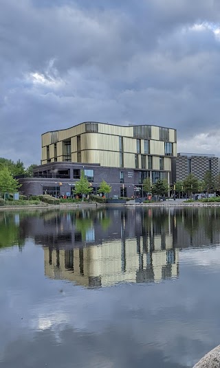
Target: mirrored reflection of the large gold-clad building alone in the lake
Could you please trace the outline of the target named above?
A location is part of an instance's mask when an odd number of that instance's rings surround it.
[[[151,209],[55,216],[35,238],[45,246],[45,275],[89,287],[177,277],[179,249],[173,247],[170,214],[156,218]]]

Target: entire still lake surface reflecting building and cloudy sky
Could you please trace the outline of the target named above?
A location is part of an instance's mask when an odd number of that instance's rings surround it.
[[[185,368],[220,343],[220,209],[0,212],[0,367]]]

